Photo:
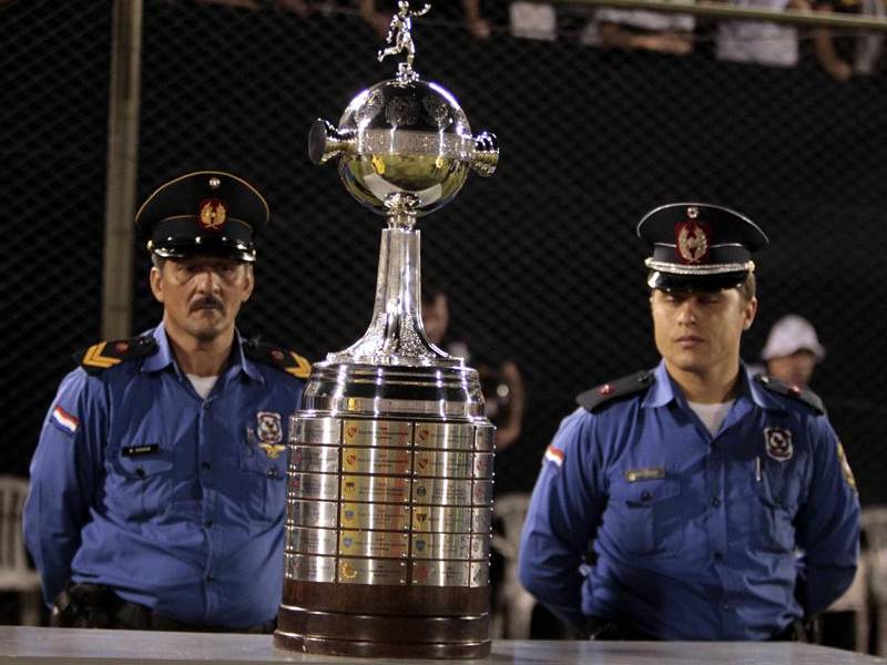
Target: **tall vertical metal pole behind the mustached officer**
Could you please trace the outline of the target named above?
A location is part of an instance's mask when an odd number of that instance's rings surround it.
[[[142,0],[114,0],[108,113],[102,338],[132,334]]]

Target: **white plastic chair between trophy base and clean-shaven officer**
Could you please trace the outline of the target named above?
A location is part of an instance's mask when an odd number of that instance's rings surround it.
[[[529,640],[536,598],[518,579],[520,532],[530,494],[514,493],[496,498],[493,519],[497,530],[492,548],[504,559],[502,583],[496,592],[492,607],[492,635],[497,640]]]

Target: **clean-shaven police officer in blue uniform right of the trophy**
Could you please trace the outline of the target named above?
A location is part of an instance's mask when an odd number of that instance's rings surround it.
[[[581,395],[561,423],[521,582],[591,637],[803,638],[853,581],[859,502],[818,398],[740,361],[767,238],[695,203],[638,233],[662,361]]]

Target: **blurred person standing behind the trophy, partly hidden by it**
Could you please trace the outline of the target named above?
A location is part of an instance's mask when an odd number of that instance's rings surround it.
[[[487,401],[487,417],[497,427],[496,450],[503,451],[520,437],[523,423],[523,379],[513,360],[499,360],[473,354],[463,341],[448,335],[450,320],[447,293],[435,285],[422,288],[422,326],[428,339],[451,356],[463,358],[478,370]]]

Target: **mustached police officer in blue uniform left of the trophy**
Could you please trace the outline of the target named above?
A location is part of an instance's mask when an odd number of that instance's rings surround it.
[[[139,211],[163,320],[78,356],[31,462],[24,536],[53,625],[273,630],[309,365],[235,328],[267,221],[252,185],[214,171]]]

